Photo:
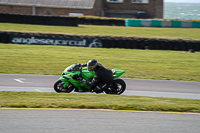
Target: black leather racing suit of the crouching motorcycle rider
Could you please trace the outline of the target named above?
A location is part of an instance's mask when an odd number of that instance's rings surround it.
[[[95,75],[92,81],[87,81],[86,84],[91,86],[94,92],[102,93],[106,87],[113,82],[113,73],[110,69],[98,64]]]

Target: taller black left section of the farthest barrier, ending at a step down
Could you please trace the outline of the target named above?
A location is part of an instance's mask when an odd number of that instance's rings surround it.
[[[77,17],[39,16],[0,13],[0,22],[55,26],[78,26]]]

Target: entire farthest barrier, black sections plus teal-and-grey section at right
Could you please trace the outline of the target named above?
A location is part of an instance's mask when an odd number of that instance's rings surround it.
[[[178,27],[200,28],[200,21],[166,21],[166,20],[140,20],[140,19],[99,19],[83,17],[40,16],[0,13],[0,22],[20,24],[40,24],[54,26],[107,25],[127,27]]]

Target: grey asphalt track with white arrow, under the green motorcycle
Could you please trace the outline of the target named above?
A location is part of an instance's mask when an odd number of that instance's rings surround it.
[[[0,74],[0,91],[54,92],[59,75]],[[200,99],[200,82],[124,79],[123,95]]]

